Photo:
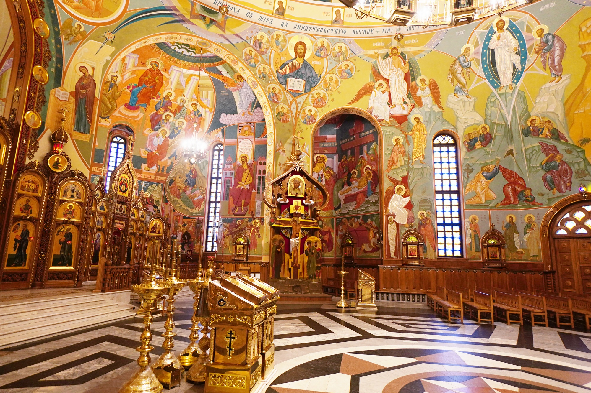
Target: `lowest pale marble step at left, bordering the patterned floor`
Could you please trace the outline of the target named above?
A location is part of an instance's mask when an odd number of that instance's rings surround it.
[[[20,345],[33,340],[47,338],[72,330],[103,325],[116,320],[127,319],[135,315],[132,307],[106,310],[100,313],[88,312],[70,317],[54,318],[39,325],[22,326],[17,332],[0,330],[0,349]]]

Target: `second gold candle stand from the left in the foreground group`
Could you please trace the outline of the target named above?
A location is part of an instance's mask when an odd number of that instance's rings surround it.
[[[177,387],[181,384],[181,374],[183,372],[183,366],[177,356],[172,352],[174,348],[174,336],[176,336],[176,333],[173,332],[174,303],[176,302],[174,297],[184,286],[187,285],[189,280],[183,280],[177,277],[176,263],[177,258],[180,259],[180,245],[178,245],[177,242],[177,239],[173,240],[173,253],[170,258],[171,269],[166,273],[167,278],[156,280],[157,283],[161,283],[168,287],[168,303],[166,306],[167,317],[166,322],[164,322],[164,333],[162,335],[164,337],[164,342],[162,344],[164,353],[156,359],[152,365],[152,371],[154,371],[158,381],[160,381],[160,383],[167,389]],[[169,256],[170,245],[167,250],[167,258]]]

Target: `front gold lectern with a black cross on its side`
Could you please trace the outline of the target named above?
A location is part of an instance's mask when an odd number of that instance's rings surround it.
[[[249,393],[261,382],[261,348],[269,295],[220,274],[209,283],[211,332],[206,393]]]

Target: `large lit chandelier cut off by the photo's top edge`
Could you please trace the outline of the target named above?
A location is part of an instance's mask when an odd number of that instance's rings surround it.
[[[340,0],[358,19],[398,26],[463,25],[537,0]]]

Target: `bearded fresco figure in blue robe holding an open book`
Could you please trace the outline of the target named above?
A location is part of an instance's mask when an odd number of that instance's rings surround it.
[[[295,57],[293,59],[285,61],[281,66],[275,63],[275,67],[277,67],[277,80],[285,89],[287,89],[287,80],[290,78],[304,81],[304,91],[288,90],[294,97],[303,93],[309,93],[322,79],[322,70],[320,70],[320,73],[316,73],[312,65],[305,58],[306,51],[306,43],[298,41],[294,45]]]

